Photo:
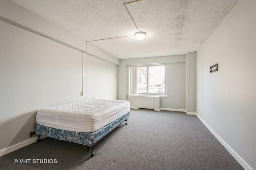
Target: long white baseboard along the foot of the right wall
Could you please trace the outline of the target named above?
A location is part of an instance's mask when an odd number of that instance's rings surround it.
[[[207,127],[207,129],[218,139],[218,141],[230,152],[230,154],[236,159],[236,161],[245,169],[245,170],[253,170],[205,121],[200,117],[200,115],[196,114],[198,119],[202,121],[202,123]]]

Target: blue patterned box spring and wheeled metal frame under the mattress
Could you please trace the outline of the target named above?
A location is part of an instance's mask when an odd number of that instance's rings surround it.
[[[102,127],[98,131],[91,132],[91,133],[66,131],[62,129],[55,129],[52,127],[36,124],[36,131],[30,132],[30,137],[32,137],[33,134],[37,134],[38,135],[37,142],[42,141],[42,139],[40,139],[40,135],[43,135],[43,136],[51,137],[54,139],[60,139],[63,141],[69,141],[69,142],[86,145],[87,151],[91,152],[91,156],[93,157],[95,155],[95,152],[93,151],[94,145],[124,121],[125,121],[125,125],[127,125],[127,119],[129,116],[130,116],[130,111],[128,111],[126,114],[122,115],[118,119],[112,121],[108,125]]]

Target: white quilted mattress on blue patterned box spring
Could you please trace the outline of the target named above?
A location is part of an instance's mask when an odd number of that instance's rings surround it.
[[[130,111],[126,100],[90,99],[40,109],[36,123],[56,129],[94,132]]]

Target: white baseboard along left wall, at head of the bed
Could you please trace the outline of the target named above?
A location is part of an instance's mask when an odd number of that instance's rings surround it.
[[[40,138],[43,139],[43,138],[45,138],[45,137],[42,137],[42,136],[41,136]],[[10,146],[10,147],[8,147],[8,148],[6,148],[6,149],[2,149],[2,150],[0,150],[0,157],[1,157],[1,156],[4,156],[5,154],[8,154],[8,153],[10,153],[10,152],[13,152],[14,150],[18,150],[18,149],[20,149],[20,148],[26,147],[27,145],[30,145],[30,144],[36,142],[37,139],[38,139],[38,137],[33,137],[33,138],[31,138],[31,139],[28,139],[28,140],[23,141],[23,142],[21,142],[21,143],[18,143],[18,144],[16,144],[16,145],[12,145],[12,146]]]

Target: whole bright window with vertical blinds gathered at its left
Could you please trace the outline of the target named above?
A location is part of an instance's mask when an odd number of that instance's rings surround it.
[[[130,94],[166,94],[166,65],[130,66]]]

